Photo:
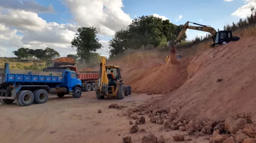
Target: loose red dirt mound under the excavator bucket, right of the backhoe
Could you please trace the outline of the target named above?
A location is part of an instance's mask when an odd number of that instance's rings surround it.
[[[177,65],[167,63],[154,68],[136,69],[125,75],[125,81],[136,93],[168,93],[186,81],[189,62],[188,58],[179,60]]]

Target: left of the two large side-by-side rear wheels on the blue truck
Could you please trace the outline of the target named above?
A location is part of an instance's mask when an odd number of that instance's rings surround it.
[[[29,90],[22,90],[18,94],[18,103],[22,106],[31,105],[34,102],[34,99],[35,99],[34,94]]]

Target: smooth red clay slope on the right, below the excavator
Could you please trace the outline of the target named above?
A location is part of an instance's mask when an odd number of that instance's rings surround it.
[[[252,113],[252,120],[256,121],[255,39],[241,38],[196,55],[187,68],[188,80],[155,106],[178,106],[180,115],[193,115],[198,119]],[[143,82],[141,86],[147,84]]]

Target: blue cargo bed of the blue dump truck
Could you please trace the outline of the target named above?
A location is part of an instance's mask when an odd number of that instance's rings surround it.
[[[20,69],[0,69],[0,84],[8,82],[61,83],[63,72],[30,71]]]

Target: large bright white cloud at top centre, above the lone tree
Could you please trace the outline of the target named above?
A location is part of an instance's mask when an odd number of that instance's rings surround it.
[[[64,3],[79,26],[96,26],[104,35],[114,35],[132,21],[122,10],[122,0],[65,0]]]

